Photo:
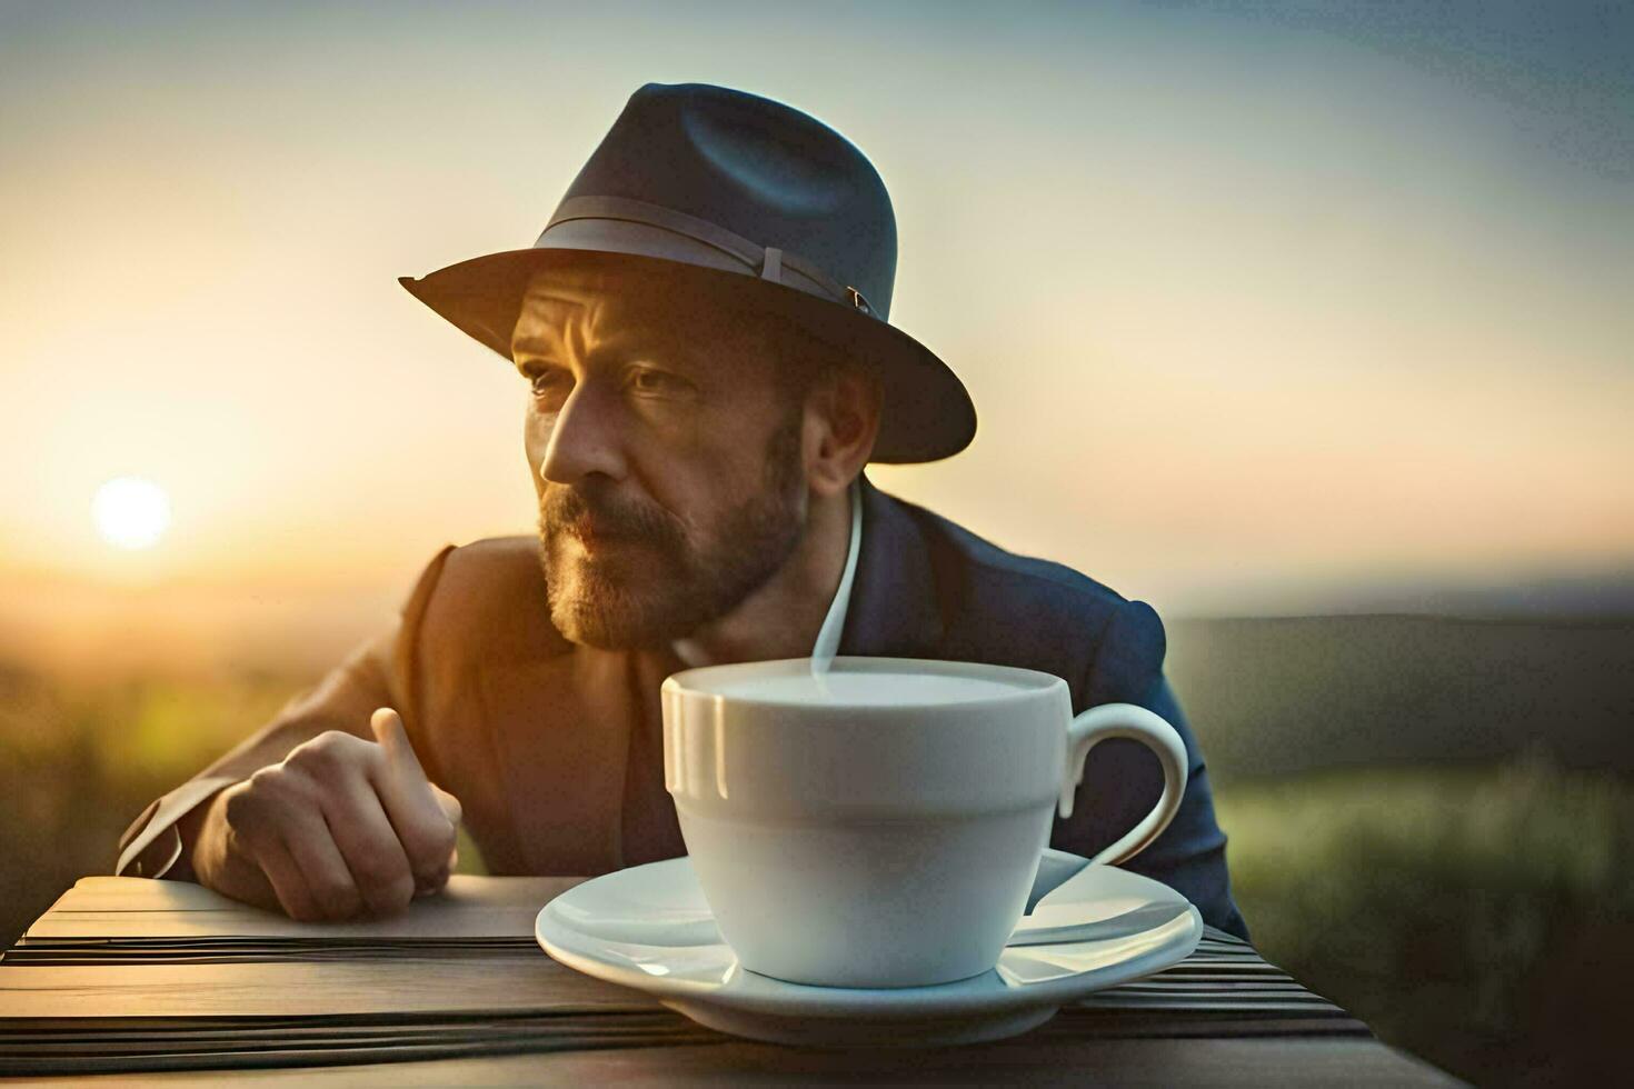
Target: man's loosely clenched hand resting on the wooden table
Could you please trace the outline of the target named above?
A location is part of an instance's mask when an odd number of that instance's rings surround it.
[[[217,793],[193,846],[199,883],[304,922],[441,890],[459,802],[425,777],[395,710],[369,727],[376,741],[330,730]]]

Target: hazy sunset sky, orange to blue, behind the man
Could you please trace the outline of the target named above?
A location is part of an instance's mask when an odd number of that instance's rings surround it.
[[[1165,614],[1634,567],[1634,20],[1355,7],[5,3],[0,635],[350,635],[531,532],[521,379],[395,278],[529,245],[645,82],[884,176],[980,416],[889,491]]]

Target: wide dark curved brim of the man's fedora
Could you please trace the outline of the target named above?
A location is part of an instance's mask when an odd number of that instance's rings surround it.
[[[662,273],[739,312],[792,322],[869,366],[884,387],[871,460],[931,462],[958,454],[975,436],[975,405],[964,382],[933,351],[879,318],[797,287],[665,258],[605,250],[528,248],[489,253],[399,282],[456,328],[511,359],[511,331],[523,294],[542,271]]]

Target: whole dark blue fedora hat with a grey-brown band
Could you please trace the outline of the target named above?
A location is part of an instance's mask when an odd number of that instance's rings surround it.
[[[891,325],[895,269],[886,183],[843,136],[758,95],[647,83],[533,247],[399,282],[510,359],[534,274],[660,273],[690,304],[789,322],[871,367],[884,387],[873,460],[928,462],[971,442],[975,407]]]

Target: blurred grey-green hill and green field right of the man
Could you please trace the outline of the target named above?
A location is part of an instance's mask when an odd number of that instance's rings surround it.
[[[1634,620],[1168,635],[1255,945],[1477,1084],[1601,1081],[1634,978]]]

